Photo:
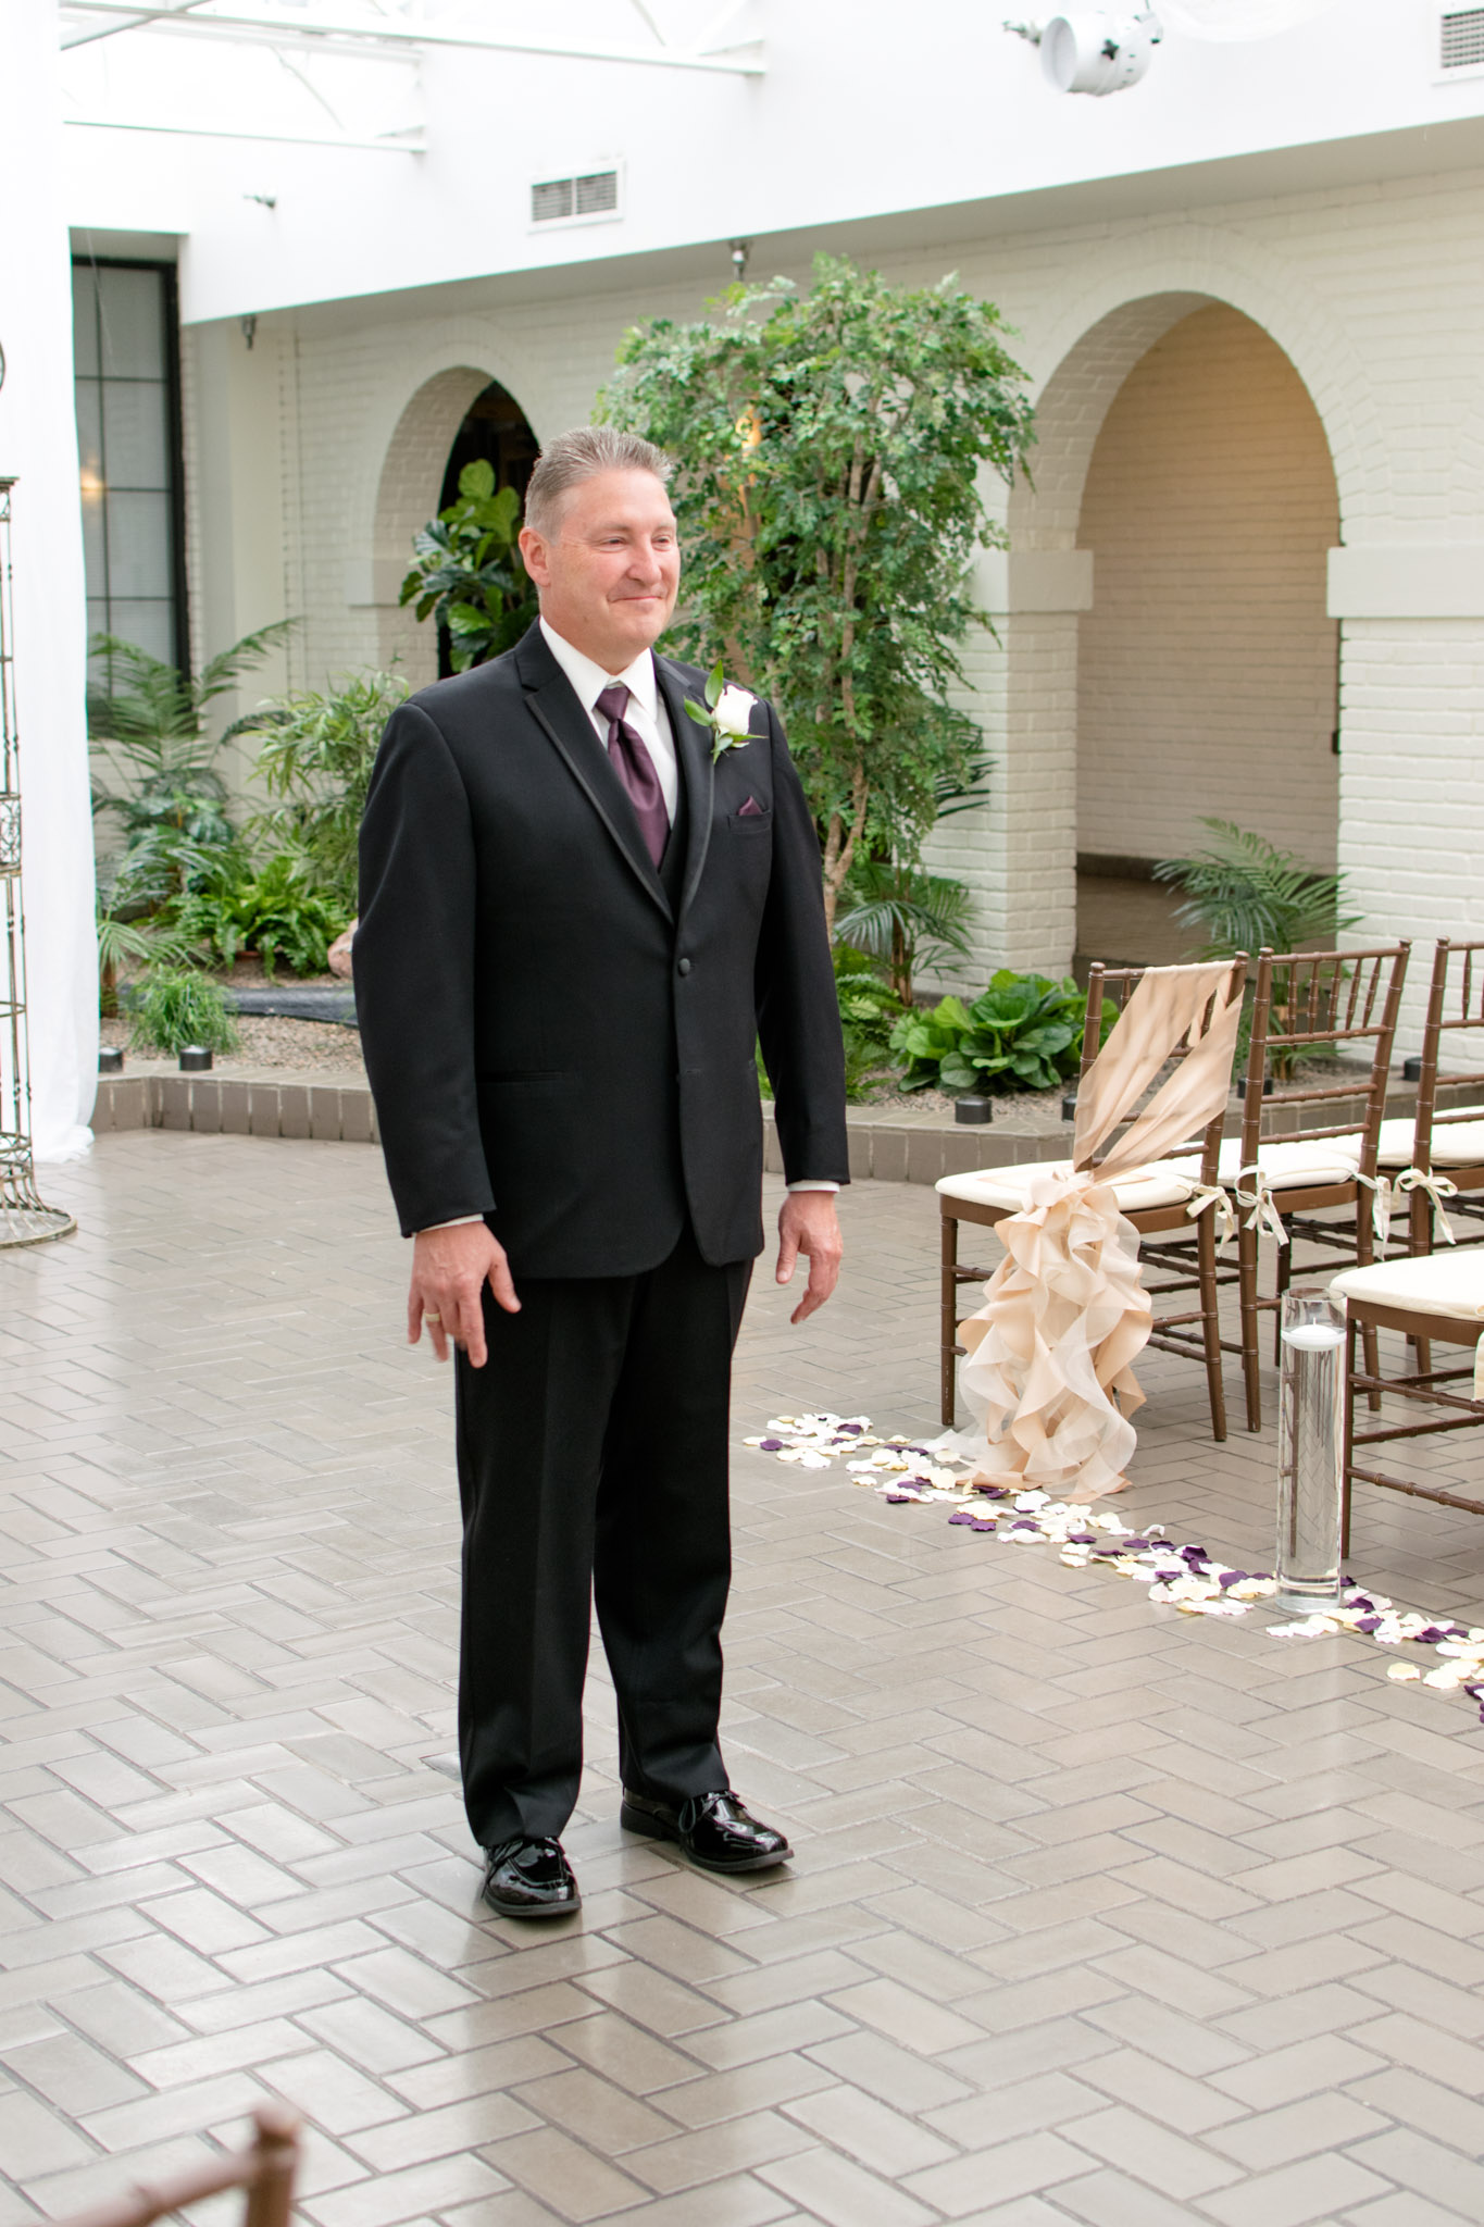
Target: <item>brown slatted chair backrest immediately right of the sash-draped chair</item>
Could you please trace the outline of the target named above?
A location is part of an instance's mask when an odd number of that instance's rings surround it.
[[[1411,942],[1371,951],[1259,951],[1241,1109],[1244,1169],[1257,1165],[1262,1145],[1279,1138],[1286,1145],[1317,1142],[1355,1136],[1359,1127],[1359,1171],[1375,1176],[1408,951]],[[1290,1080],[1304,1053],[1317,1060],[1339,1047],[1353,1047],[1348,1073],[1337,1069],[1333,1082]],[[1264,1082],[1273,1082],[1270,1098]],[[1359,1125],[1357,1093],[1364,1093]],[[1304,1109],[1297,1127],[1290,1120],[1295,1107]]]

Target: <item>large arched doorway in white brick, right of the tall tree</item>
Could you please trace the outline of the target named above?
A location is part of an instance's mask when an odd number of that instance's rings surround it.
[[[1335,864],[1339,497],[1284,350],[1226,303],[1184,314],[1097,432],[1077,546],[1077,951],[1170,962],[1190,940],[1155,860],[1235,820]]]

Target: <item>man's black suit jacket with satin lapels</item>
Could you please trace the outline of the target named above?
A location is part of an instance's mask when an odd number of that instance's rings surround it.
[[[761,1249],[761,1036],[785,1174],[848,1180],[819,842],[768,704],[712,764],[656,657],[685,815],[672,904],[538,626],[387,726],[356,1009],[403,1232],[483,1214],[516,1276]],[[756,811],[743,811],[745,804]]]

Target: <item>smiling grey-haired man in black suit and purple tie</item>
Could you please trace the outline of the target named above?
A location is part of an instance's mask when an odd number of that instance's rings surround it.
[[[790,1855],[716,1715],[728,1399],[761,1252],[761,1040],[794,1321],[839,1274],[845,1091],[819,842],[768,704],[721,746],[654,657],[679,586],[661,450],[550,443],[521,552],[541,619],[389,722],[360,840],[356,1002],[414,1236],[407,1334],[456,1347],[458,1739],[501,1915],[578,1909],[590,1601],[621,1822],[712,1871]]]

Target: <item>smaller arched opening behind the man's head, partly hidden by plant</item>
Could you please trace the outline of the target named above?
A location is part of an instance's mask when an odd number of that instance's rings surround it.
[[[438,641],[432,621],[418,626],[396,590],[412,561],[412,537],[458,494],[458,472],[474,457],[496,468],[496,485],[525,494],[536,461],[536,436],[514,396],[467,363],[427,379],[396,421],[376,485],[376,655],[394,659],[414,688],[438,679]],[[501,477],[503,474],[503,477]]]

